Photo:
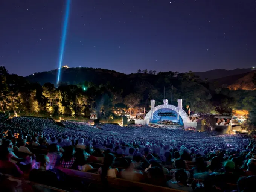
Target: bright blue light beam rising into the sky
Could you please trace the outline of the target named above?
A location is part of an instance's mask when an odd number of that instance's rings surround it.
[[[64,52],[66,34],[67,34],[67,23],[69,21],[69,7],[70,7],[70,0],[67,0],[64,24],[63,24],[63,29],[62,29],[61,49],[60,49],[60,52],[59,52],[59,70],[58,70],[57,85],[59,85],[59,79],[60,79],[60,76],[61,76],[61,66],[62,66],[63,52]]]

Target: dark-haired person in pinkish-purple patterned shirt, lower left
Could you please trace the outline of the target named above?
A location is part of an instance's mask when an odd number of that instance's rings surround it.
[[[47,157],[49,158],[47,170],[59,166],[62,154],[59,152],[59,146],[57,144],[53,143],[49,145],[49,153],[47,154]]]

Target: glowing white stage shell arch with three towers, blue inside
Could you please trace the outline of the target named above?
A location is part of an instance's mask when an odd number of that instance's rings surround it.
[[[186,111],[182,109],[182,99],[178,99],[178,107],[174,105],[169,105],[167,99],[164,100],[163,105],[158,105],[156,107],[154,107],[154,102],[154,100],[151,100],[151,110],[148,112],[148,114],[146,114],[145,124],[148,125],[151,122],[154,123],[157,120],[160,120],[162,117],[158,116],[159,111],[166,112],[167,110],[169,110],[175,112],[174,114],[177,114],[175,118],[177,119],[181,126],[184,126],[185,128],[189,126],[196,127],[196,124],[190,121]]]

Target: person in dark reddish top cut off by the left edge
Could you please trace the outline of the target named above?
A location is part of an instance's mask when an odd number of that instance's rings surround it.
[[[23,172],[20,168],[10,161],[8,148],[0,147],[0,173],[22,177]]]

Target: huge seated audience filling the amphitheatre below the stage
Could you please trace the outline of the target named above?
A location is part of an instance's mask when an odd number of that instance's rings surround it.
[[[117,177],[183,191],[211,191],[213,186],[227,190],[227,183],[242,191],[255,181],[256,141],[241,134],[211,136],[177,127],[114,124],[81,131],[80,123],[69,124],[62,128],[35,117],[1,122],[0,173],[27,173],[33,182],[64,189],[70,186],[58,168],[99,174],[103,184],[107,177]],[[32,149],[47,154],[35,156]],[[21,153],[27,155],[19,157]]]

